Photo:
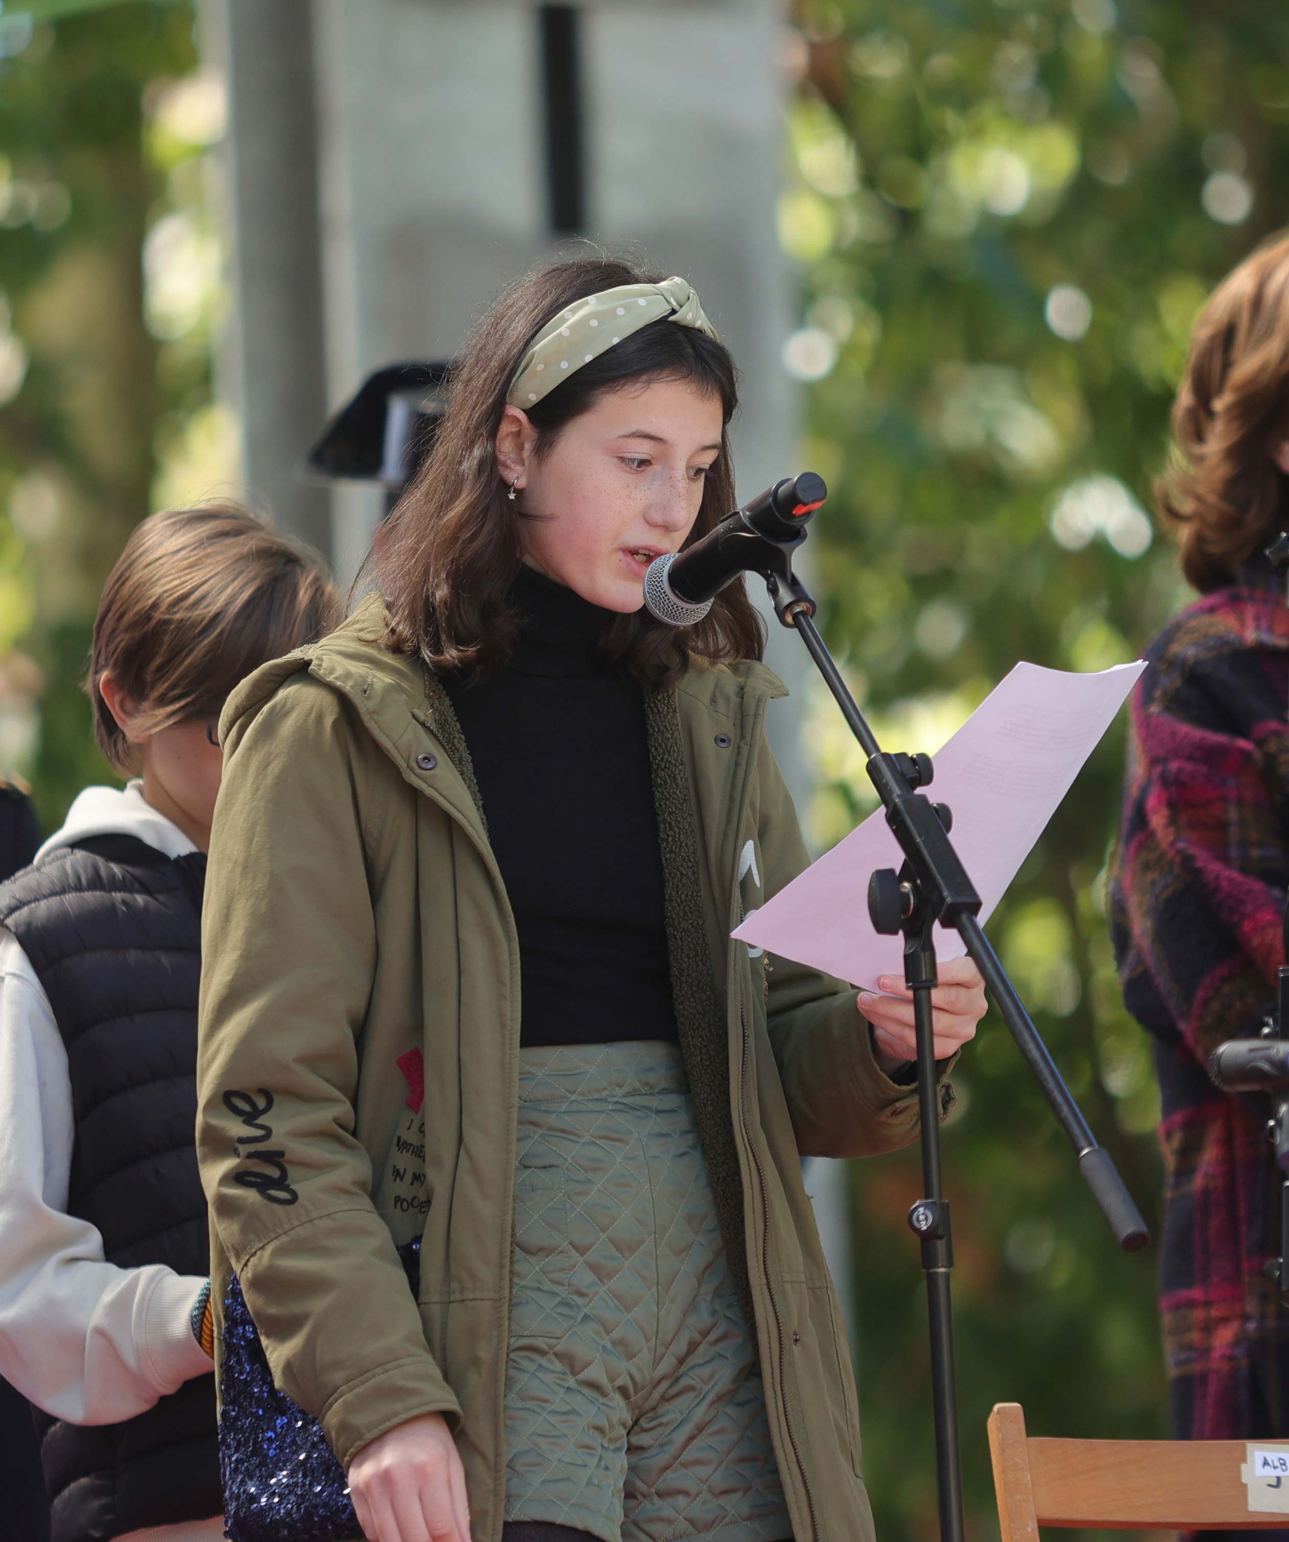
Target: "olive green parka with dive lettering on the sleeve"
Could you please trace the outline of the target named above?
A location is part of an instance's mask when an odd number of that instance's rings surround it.
[[[236,1271],[278,1385],[345,1465],[443,1412],[475,1542],[500,1542],[518,941],[447,695],[381,635],[372,600],[256,671],[220,723],[197,1064],[213,1295]],[[806,865],[763,732],[783,694],[743,663],[646,699],[668,950],[793,1530],[865,1542],[854,1380],[800,1158],[905,1146],[917,1106],[851,990],[729,938]],[[419,1300],[395,1252],[416,1235]]]

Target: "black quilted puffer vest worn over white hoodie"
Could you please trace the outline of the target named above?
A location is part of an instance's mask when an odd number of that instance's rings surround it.
[[[68,1214],[109,1263],[210,1271],[197,1112],[200,854],[133,836],[51,851],[0,890],[63,1036],[76,1141]],[[100,1542],[222,1510],[214,1377],[136,1419],[91,1428],[37,1414],[52,1542]]]

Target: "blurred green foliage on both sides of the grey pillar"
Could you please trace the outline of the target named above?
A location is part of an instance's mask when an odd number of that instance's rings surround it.
[[[1183,601],[1150,480],[1204,295],[1286,217],[1289,14],[1266,0],[796,0],[780,234],[802,274],[786,367],[833,646],[891,748],[934,749],[1018,658],[1099,669]],[[32,23],[0,9],[0,771],[52,827],[108,773],[79,691],[133,524],[205,464],[217,91],[193,9]],[[213,298],[216,296],[216,298]],[[217,460],[217,455],[213,456]],[[828,702],[823,843],[867,814]],[[1104,871],[1122,725],[990,933],[1147,1215],[1149,1049],[1126,1018]],[[1167,1433],[1152,1258],[1121,1257],[1005,1030],[945,1135],[973,1536],[984,1422]],[[853,1170],[859,1362],[879,1534],[933,1533],[916,1153]]]

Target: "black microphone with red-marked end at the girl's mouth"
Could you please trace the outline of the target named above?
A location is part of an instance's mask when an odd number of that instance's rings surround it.
[[[649,614],[671,626],[702,621],[728,583],[760,566],[766,541],[803,541],[806,521],[826,497],[828,486],[814,472],[785,476],[683,552],[657,557],[644,574]]]

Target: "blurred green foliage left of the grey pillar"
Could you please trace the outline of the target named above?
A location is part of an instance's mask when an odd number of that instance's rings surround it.
[[[99,591],[210,395],[210,338],[167,327],[156,282],[200,194],[204,146],[163,111],[193,28],[187,5],[0,12],[0,771],[46,830],[111,780],[79,688]]]

